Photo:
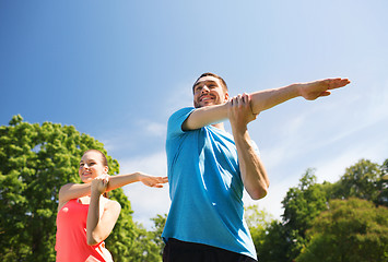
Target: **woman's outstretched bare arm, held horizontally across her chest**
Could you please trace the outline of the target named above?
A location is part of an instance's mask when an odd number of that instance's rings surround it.
[[[166,183],[167,177],[152,177],[143,172],[125,174],[109,176],[109,183],[106,191],[110,191],[128,183],[141,181],[148,187],[162,188]],[[91,194],[91,183],[68,183],[59,190],[58,210],[60,210],[69,200],[82,198]]]

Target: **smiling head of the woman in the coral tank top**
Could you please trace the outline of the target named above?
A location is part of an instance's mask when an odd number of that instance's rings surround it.
[[[96,177],[107,174],[108,167],[103,165],[102,156],[98,152],[86,152],[80,162],[79,175],[83,182],[92,182]]]

